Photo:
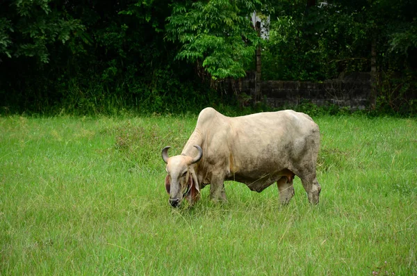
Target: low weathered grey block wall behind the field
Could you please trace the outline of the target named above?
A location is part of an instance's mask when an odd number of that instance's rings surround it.
[[[253,95],[254,74],[240,83],[240,93]],[[262,96],[273,107],[297,105],[311,102],[318,106],[336,104],[352,109],[364,109],[368,106],[370,77],[368,73],[356,73],[343,79],[333,79],[322,83],[310,81],[262,81]]]

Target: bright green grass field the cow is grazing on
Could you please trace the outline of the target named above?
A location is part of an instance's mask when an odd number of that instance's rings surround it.
[[[320,203],[171,209],[196,117],[0,117],[0,275],[417,275],[417,121],[316,117]]]

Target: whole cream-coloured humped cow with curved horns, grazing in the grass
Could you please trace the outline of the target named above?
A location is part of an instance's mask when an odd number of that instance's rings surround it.
[[[162,149],[170,205],[179,206],[183,198],[193,205],[206,185],[211,200],[225,202],[225,180],[242,182],[258,193],[277,182],[279,202],[287,204],[294,195],[295,175],[309,202],[318,204],[319,146],[318,125],[304,113],[285,110],[227,117],[204,108],[180,155],[170,157],[170,147]]]

